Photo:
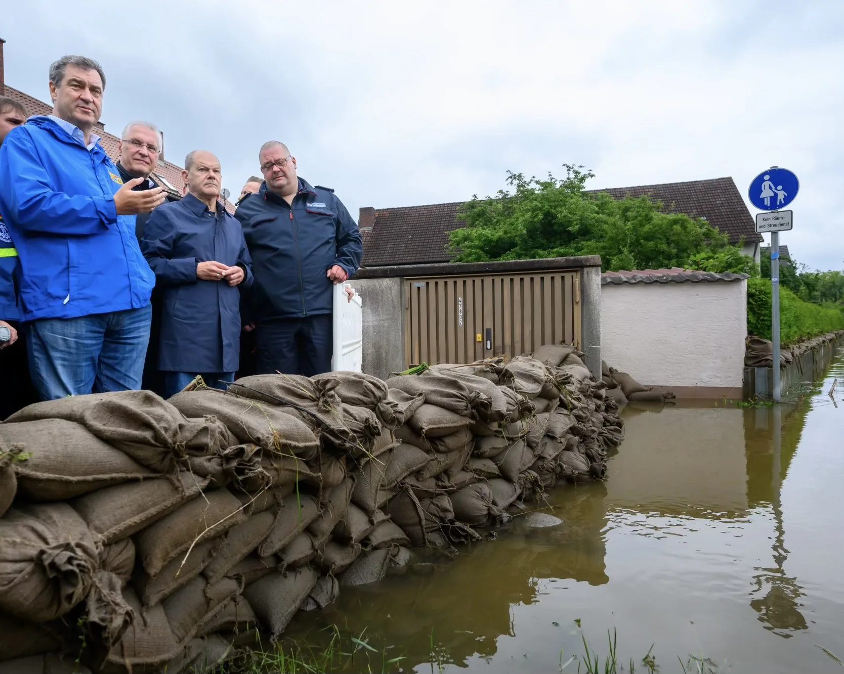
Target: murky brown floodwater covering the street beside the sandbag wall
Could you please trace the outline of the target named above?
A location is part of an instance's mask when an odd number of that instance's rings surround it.
[[[582,637],[607,655],[608,630],[636,671],[652,644],[663,674],[690,655],[711,661],[703,671],[844,671],[825,652],[844,660],[835,378],[844,383],[841,353],[781,407],[627,407],[608,480],[549,494],[561,525],[516,518],[436,573],[344,589],[322,614],[300,614],[291,636],[365,630],[405,657],[404,671],[560,671]]]

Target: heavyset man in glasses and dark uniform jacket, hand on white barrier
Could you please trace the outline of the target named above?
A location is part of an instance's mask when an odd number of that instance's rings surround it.
[[[284,143],[264,143],[258,160],[261,189],[235,213],[255,273],[257,371],[317,375],[331,370],[333,284],[360,266],[360,232],[333,190],[296,175]]]

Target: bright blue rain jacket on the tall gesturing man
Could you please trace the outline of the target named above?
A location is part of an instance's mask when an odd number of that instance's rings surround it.
[[[20,258],[20,318],[75,318],[149,305],[155,283],[118,216],[119,172],[46,116],[12,130],[0,147],[0,213]]]

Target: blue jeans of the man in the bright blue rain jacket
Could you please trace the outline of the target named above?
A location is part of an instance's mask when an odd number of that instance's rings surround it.
[[[32,321],[30,372],[41,400],[137,391],[149,343],[149,305],[78,318]]]

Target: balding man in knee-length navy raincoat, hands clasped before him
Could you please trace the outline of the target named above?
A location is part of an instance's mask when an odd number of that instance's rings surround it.
[[[159,369],[170,397],[203,375],[225,389],[241,348],[241,293],[252,285],[252,259],[241,224],[219,202],[219,160],[195,150],[182,173],[187,194],[156,208],[141,241],[163,289]]]

